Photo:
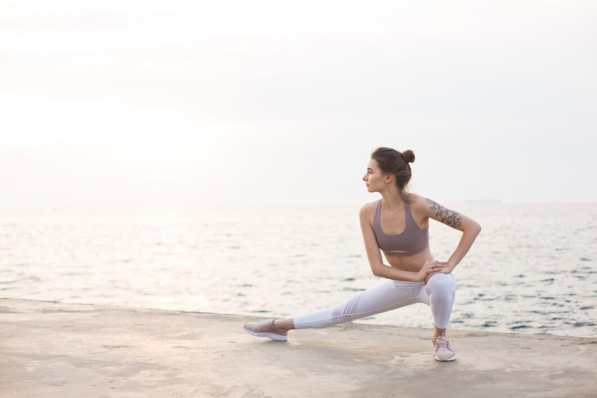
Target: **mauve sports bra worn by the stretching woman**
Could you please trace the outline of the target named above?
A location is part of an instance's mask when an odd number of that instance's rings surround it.
[[[386,235],[381,230],[381,199],[377,203],[375,219],[373,221],[373,232],[375,233],[379,248],[386,255],[395,257],[415,255],[426,249],[427,245],[429,245],[429,227],[421,229],[415,224],[410,206],[408,205],[408,195],[403,192],[402,196],[404,196],[404,220],[406,224],[402,233],[398,235]],[[392,252],[395,250],[400,252]]]

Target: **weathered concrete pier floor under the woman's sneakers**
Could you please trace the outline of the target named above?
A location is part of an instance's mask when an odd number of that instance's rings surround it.
[[[597,338],[345,323],[247,334],[259,317],[0,299],[0,396],[597,397]]]

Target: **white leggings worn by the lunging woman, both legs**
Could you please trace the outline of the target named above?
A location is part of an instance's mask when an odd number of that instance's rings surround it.
[[[386,279],[327,310],[293,317],[294,328],[326,328],[410,304],[425,303],[431,307],[435,326],[446,329],[450,325],[455,296],[456,276],[453,273],[437,273],[427,280],[427,285],[423,285],[423,282]]]

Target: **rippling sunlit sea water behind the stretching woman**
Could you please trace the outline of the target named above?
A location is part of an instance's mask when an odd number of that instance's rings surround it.
[[[445,203],[483,230],[450,328],[597,337],[597,203]],[[0,297],[292,317],[383,282],[359,205],[0,212]],[[461,233],[430,220],[446,261]],[[387,264],[387,261],[385,262]],[[355,323],[432,328],[425,304]]]

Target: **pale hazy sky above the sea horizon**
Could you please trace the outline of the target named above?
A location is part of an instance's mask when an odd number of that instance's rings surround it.
[[[2,1],[0,210],[596,202],[593,1]]]

